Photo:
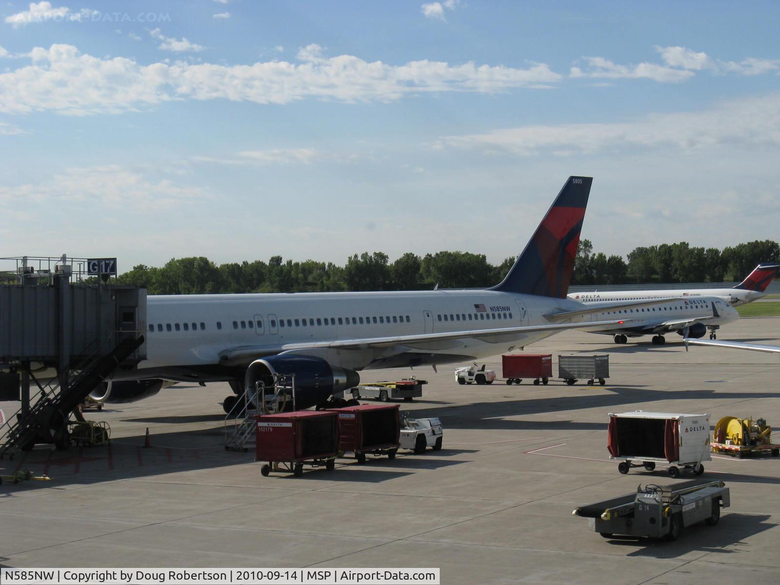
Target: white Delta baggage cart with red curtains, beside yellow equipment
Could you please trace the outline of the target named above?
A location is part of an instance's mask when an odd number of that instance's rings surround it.
[[[607,449],[610,459],[620,461],[618,471],[629,473],[633,467],[655,469],[656,463],[668,463],[668,473],[679,477],[680,468],[704,473],[702,461],[711,461],[710,415],[645,413],[609,413]]]

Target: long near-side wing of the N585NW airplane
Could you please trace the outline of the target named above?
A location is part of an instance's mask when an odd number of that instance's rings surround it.
[[[628,320],[626,320],[628,321]],[[395,335],[392,337],[370,337],[363,339],[340,339],[337,341],[285,343],[281,346],[239,346],[224,349],[219,353],[220,363],[241,363],[285,351],[300,349],[372,349],[391,346],[424,348],[432,343],[452,339],[480,339],[488,343],[505,342],[509,337],[523,333],[558,332],[566,329],[609,328],[626,321],[585,321],[583,323],[562,323],[550,325],[529,325],[527,327],[505,327],[498,329],[473,329],[470,331],[421,333],[419,335]]]

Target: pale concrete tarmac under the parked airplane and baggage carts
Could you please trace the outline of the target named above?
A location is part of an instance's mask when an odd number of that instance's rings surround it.
[[[719,339],[778,343],[780,318],[743,318]],[[441,583],[778,583],[780,458],[714,456],[705,478],[731,488],[717,527],[679,541],[605,540],[571,515],[665,469],[620,475],[606,449],[608,413],[764,417],[780,429],[778,356],[649,338],[615,346],[583,332],[527,353],[609,353],[605,386],[461,386],[453,365],[367,371],[363,381],[427,378],[402,410],[438,416],[444,449],[303,477],[261,477],[253,453],[225,452],[227,384],[179,384],[90,413],[110,448],[46,445],[0,462],[47,483],[0,486],[0,565],[12,567],[439,567]],[[501,374],[500,356],[486,360]],[[554,363],[557,373],[557,360]],[[6,414],[15,405],[0,404]],[[150,429],[151,449],[143,449]],[[780,430],[776,441],[780,442]],[[689,477],[683,474],[680,480]]]

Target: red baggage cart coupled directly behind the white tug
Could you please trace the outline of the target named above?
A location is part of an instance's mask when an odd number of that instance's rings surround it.
[[[366,463],[366,454],[395,459],[400,445],[399,406],[363,404],[335,410],[339,413],[339,451],[355,454]]]

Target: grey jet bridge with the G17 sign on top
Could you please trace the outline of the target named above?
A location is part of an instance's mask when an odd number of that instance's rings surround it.
[[[0,427],[0,458],[36,442],[66,449],[83,399],[146,359],[146,289],[118,285],[115,258],[0,258],[0,282],[0,401],[21,402]]]

